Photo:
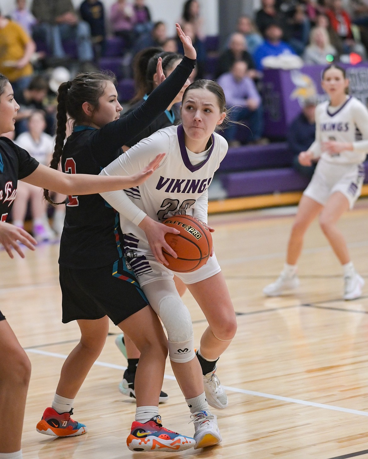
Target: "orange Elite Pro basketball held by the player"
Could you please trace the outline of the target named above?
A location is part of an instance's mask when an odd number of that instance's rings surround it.
[[[212,236],[198,218],[175,215],[162,223],[180,231],[180,234],[165,235],[166,242],[178,254],[178,258],[174,258],[162,249],[169,262],[167,268],[177,273],[190,273],[207,263],[212,251]]]

